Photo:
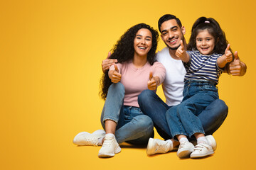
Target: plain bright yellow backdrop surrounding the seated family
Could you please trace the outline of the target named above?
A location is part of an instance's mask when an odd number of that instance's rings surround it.
[[[0,169],[255,169],[255,1],[1,1]],[[81,131],[100,129],[101,62],[127,28],[172,13],[186,27],[215,18],[247,64],[244,77],[220,77],[228,118],[206,159],[176,152],[146,155],[122,147],[112,159],[100,147],[75,147]],[[164,47],[159,41],[159,50]],[[161,88],[158,94],[164,98]],[[159,135],[156,135],[159,138]]]

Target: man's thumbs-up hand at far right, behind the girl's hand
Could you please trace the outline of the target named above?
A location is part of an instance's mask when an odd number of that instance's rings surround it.
[[[240,62],[240,58],[238,57],[238,52],[234,53],[234,61],[229,64],[230,66],[230,74],[233,76],[243,76],[246,72],[246,64]]]

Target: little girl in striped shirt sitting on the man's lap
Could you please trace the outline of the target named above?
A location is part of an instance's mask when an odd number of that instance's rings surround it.
[[[191,51],[185,51],[181,40],[176,56],[186,68],[183,101],[166,111],[166,119],[171,134],[180,142],[178,157],[206,157],[214,153],[210,143],[215,140],[212,136],[205,137],[196,115],[218,98],[218,78],[233,55],[218,22],[206,17],[198,18],[193,24],[188,50]],[[196,137],[196,147],[188,142],[187,136],[192,135]]]

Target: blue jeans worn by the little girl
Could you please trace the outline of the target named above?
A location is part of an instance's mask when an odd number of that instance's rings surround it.
[[[203,125],[197,116],[213,101],[218,99],[216,83],[211,81],[187,80],[184,84],[183,101],[166,111],[171,135],[203,133]]]

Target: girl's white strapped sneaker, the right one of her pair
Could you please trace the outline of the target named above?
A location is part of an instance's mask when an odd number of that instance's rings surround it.
[[[206,157],[213,153],[213,148],[210,145],[206,143],[200,143],[196,145],[195,149],[193,149],[191,158]]]

